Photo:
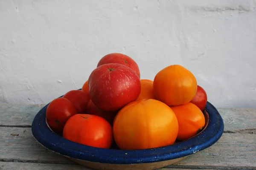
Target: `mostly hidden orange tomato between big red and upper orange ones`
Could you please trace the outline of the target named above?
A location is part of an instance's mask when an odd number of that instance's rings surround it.
[[[141,84],[141,91],[137,101],[141,99],[155,99],[154,93],[153,93],[153,81],[142,79],[140,80],[140,84]]]

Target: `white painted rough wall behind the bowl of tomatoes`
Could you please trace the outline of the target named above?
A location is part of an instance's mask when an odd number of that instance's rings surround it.
[[[180,64],[216,107],[256,108],[255,0],[0,1],[0,103],[46,104],[112,52],[143,79]]]

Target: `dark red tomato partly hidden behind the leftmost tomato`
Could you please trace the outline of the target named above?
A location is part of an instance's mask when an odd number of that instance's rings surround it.
[[[78,114],[85,114],[90,95],[81,90],[72,90],[64,94],[63,98],[68,99],[76,108]]]

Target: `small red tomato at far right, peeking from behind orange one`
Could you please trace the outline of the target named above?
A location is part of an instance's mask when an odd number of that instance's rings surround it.
[[[207,104],[207,94],[201,86],[198,85],[198,90],[191,103],[195,104],[201,111],[204,110]]]

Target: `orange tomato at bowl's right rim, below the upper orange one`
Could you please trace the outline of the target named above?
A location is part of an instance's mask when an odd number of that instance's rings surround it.
[[[189,102],[184,105],[171,106],[170,108],[172,108],[178,120],[178,140],[183,141],[189,139],[204,128],[204,114],[193,103]]]

